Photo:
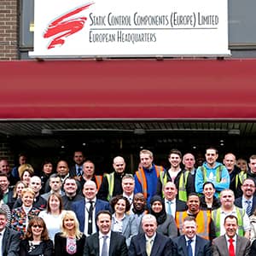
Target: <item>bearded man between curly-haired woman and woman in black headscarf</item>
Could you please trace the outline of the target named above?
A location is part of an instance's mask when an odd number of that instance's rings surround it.
[[[147,213],[146,205],[147,201],[143,193],[134,195],[130,214],[134,215],[134,218],[136,219],[137,230],[139,230],[143,216]]]

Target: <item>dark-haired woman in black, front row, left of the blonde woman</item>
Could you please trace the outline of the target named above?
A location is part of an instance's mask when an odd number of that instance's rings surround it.
[[[33,255],[53,255],[53,242],[49,239],[44,219],[40,217],[29,221],[24,240],[20,242],[20,256]]]

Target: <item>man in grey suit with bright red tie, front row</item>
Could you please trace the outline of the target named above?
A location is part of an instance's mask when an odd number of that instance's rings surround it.
[[[213,239],[213,256],[247,256],[250,253],[250,241],[236,234],[237,218],[228,215],[224,218],[225,234]],[[236,248],[236,250],[235,250]]]

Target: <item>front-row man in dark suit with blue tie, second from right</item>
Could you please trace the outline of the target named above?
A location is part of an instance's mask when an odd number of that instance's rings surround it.
[[[177,236],[176,238],[173,239],[174,243],[177,246],[177,256],[212,256],[211,241],[208,241],[207,239],[204,239],[201,236],[197,236],[196,231],[197,224],[195,222],[195,218],[191,216],[184,218],[184,235]],[[191,248],[191,250],[189,248]]]

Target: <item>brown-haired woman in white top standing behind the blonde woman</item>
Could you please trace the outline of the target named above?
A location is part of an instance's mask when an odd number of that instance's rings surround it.
[[[39,213],[44,219],[49,232],[49,238],[54,241],[55,234],[61,231],[61,219],[66,211],[63,210],[61,195],[53,193],[49,195],[46,210]]]

